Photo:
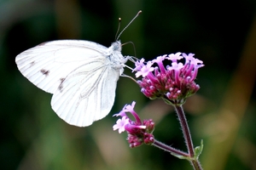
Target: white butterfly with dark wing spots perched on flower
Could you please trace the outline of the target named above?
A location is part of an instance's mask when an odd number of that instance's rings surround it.
[[[65,122],[85,127],[107,116],[125,62],[121,43],[109,48],[96,42],[44,42],[17,55],[22,75],[53,94],[52,109]]]

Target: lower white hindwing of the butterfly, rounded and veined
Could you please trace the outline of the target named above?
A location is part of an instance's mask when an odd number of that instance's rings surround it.
[[[53,110],[69,124],[89,126],[111,110],[119,72],[102,64],[97,61],[73,71],[53,95]]]

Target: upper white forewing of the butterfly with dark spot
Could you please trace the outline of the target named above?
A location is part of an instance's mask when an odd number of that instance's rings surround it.
[[[21,74],[44,91],[54,94],[61,80],[79,65],[104,58],[106,47],[89,41],[44,42],[17,55]]]

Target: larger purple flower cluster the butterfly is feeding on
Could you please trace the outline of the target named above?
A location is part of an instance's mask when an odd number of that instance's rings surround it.
[[[182,105],[185,100],[199,90],[195,77],[200,67],[204,66],[195,54],[169,54],[157,57],[145,63],[145,59],[135,63],[136,77],[143,77],[137,81],[142,93],[149,99],[162,98],[172,105]],[[171,60],[172,65],[165,65],[165,59]],[[179,62],[185,59],[184,64]],[[153,66],[156,65],[156,66]]]

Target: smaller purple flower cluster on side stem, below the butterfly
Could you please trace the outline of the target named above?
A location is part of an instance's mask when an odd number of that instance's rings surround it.
[[[153,144],[154,135],[154,122],[149,120],[141,121],[140,117],[133,110],[136,102],[132,102],[131,105],[125,105],[122,111],[119,114],[113,116],[122,116],[115,125],[113,125],[113,130],[119,129],[119,133],[127,132],[128,133],[128,143],[131,148],[137,147],[141,144]],[[126,113],[130,112],[134,117],[135,121],[132,121]]]

